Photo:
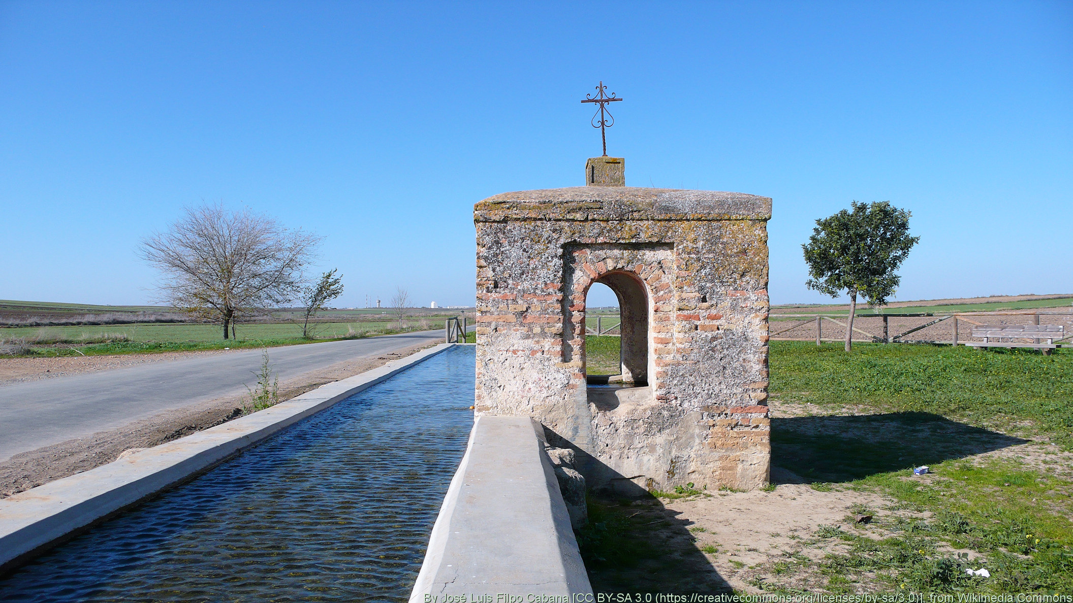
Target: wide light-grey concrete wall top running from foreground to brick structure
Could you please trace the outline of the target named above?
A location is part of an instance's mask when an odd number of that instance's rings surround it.
[[[411,603],[592,600],[544,444],[528,416],[476,417]]]

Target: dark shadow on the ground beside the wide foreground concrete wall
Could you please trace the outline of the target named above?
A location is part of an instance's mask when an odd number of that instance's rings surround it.
[[[696,546],[691,521],[651,496],[588,495],[578,545],[598,593],[721,594],[733,589]],[[634,599],[635,600],[635,599]]]

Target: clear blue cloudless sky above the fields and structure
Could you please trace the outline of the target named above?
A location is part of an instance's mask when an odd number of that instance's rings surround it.
[[[472,305],[473,203],[582,185],[601,79],[628,185],[774,198],[773,303],[854,200],[913,214],[898,299],[1073,292],[1071,2],[0,1],[0,298],[148,302],[222,201],[339,306]]]

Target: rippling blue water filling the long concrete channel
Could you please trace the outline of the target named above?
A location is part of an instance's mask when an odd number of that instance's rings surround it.
[[[406,601],[473,425],[474,350],[339,402],[0,580],[0,601]]]

